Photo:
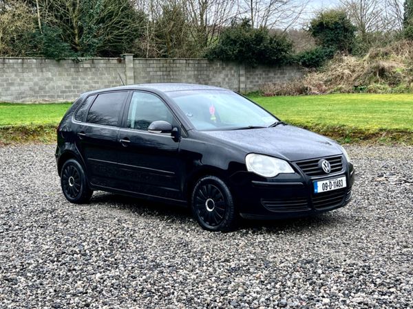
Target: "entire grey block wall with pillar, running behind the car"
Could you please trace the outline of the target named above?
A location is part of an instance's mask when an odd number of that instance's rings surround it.
[[[85,91],[148,82],[210,84],[256,91],[301,76],[297,67],[244,67],[207,59],[92,58],[80,62],[0,58],[0,102],[72,101]]]

